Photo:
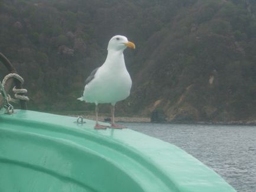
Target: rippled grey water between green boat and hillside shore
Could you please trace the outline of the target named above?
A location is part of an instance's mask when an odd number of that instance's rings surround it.
[[[184,149],[237,191],[256,191],[256,126],[124,124]]]

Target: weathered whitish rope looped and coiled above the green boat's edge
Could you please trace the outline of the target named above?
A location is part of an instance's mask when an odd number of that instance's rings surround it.
[[[19,76],[17,73],[9,73],[7,76],[4,77],[4,80],[3,80],[3,82],[2,82],[2,85],[3,85],[3,86],[5,85],[5,83],[7,82],[7,80],[8,80],[9,78],[15,78],[15,79],[17,79],[18,81],[20,81],[21,84],[24,83],[24,79],[23,79],[21,76]],[[14,95],[15,99],[12,99],[12,97],[8,95],[8,100],[9,100],[10,102],[17,102],[18,100],[25,100],[25,101],[30,100],[30,99],[29,99],[27,96],[25,96],[25,95],[19,95],[20,93],[27,93],[27,92],[28,92],[27,89],[16,89],[16,86],[14,86],[14,88],[12,89],[12,91],[15,93],[15,95]]]

